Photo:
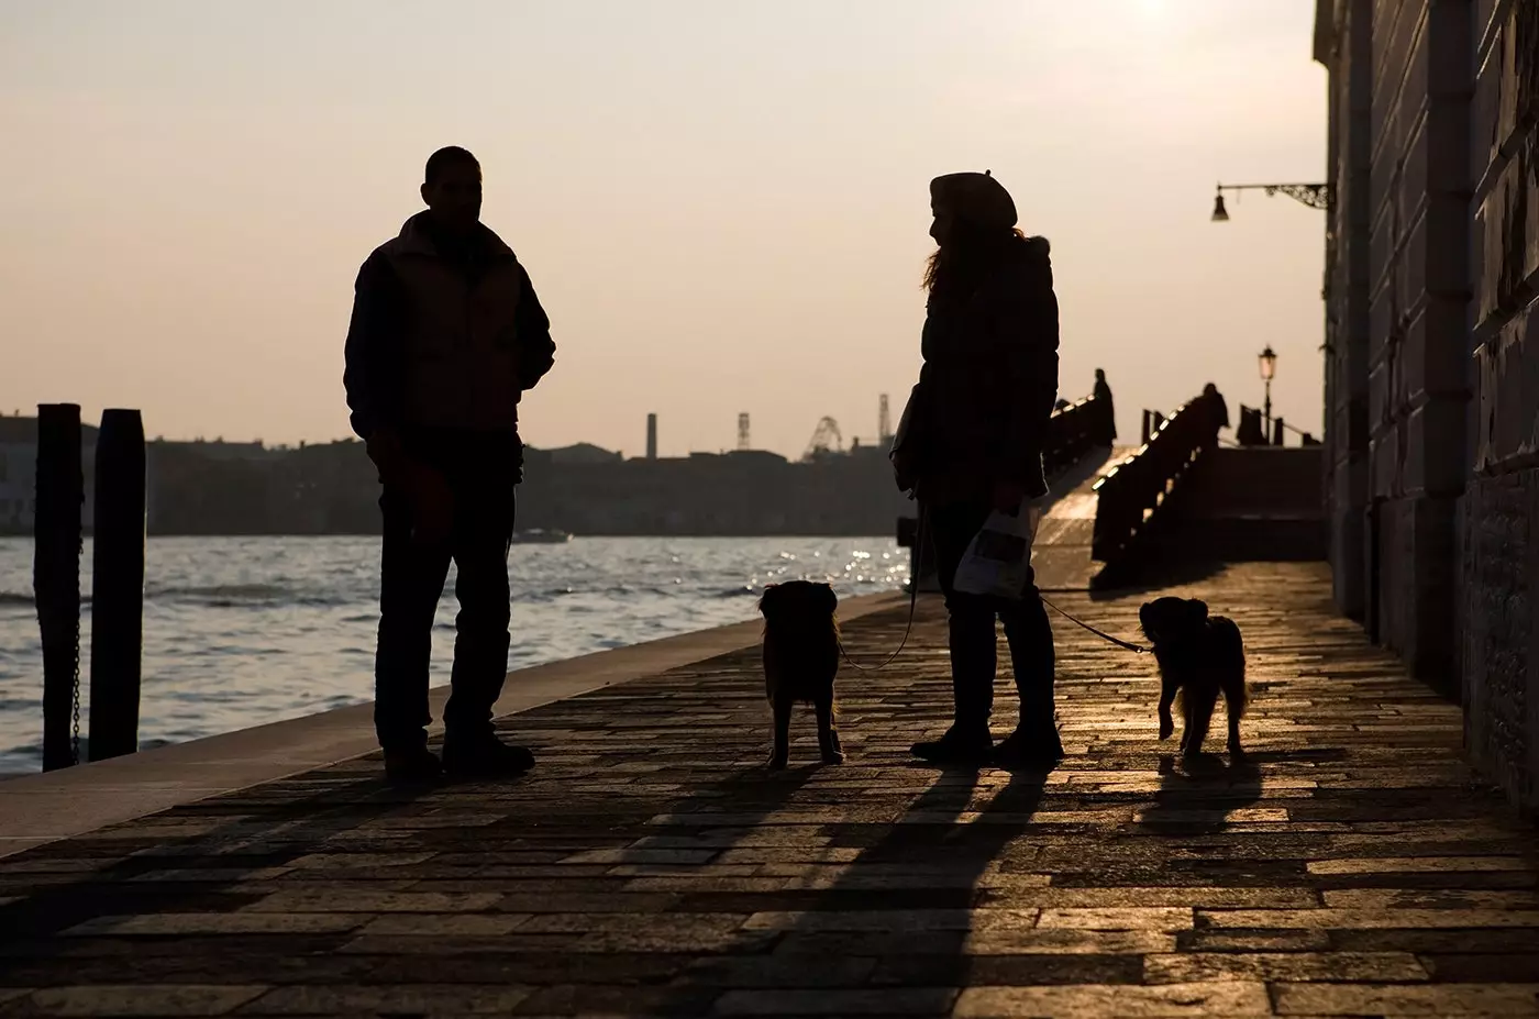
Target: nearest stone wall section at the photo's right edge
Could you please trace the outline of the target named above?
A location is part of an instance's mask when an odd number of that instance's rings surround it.
[[[1465,733],[1476,763],[1539,808],[1539,3],[1481,0],[1474,40]]]

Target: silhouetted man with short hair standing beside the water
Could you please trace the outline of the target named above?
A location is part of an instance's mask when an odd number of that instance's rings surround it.
[[[519,774],[491,710],[508,671],[508,546],[523,477],[519,399],[556,345],[529,276],[480,223],[482,172],[462,148],[428,159],[426,211],[359,271],[343,385],[383,494],[374,727],[392,780]],[[443,762],[428,750],[428,663],[449,562],[459,566]]]

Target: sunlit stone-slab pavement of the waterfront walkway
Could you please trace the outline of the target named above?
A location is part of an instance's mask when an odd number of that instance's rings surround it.
[[[922,602],[842,676],[845,767],[810,717],[759,767],[742,651],[505,719],[520,782],[363,759],[0,860],[0,1016],[1539,1014],[1534,830],[1457,710],[1324,565],[1187,590],[1245,631],[1253,770],[1174,767],[1151,662],[1059,619],[1063,765],[913,765],[950,700]],[[1131,634],[1140,597],[1054,600]]]

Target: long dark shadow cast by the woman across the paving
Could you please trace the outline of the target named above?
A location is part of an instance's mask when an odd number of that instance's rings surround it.
[[[979,959],[968,940],[976,908],[991,897],[1005,907],[991,910],[1005,924],[993,933],[1008,936],[1011,924],[1030,928],[1036,919],[1034,908],[1010,914],[1008,900],[1013,882],[1039,884],[1031,853],[1011,854],[1030,850],[1017,840],[1045,780],[1045,771],[1010,774],[980,805],[988,787],[977,771],[942,771],[873,842],[865,825],[833,825],[834,847],[865,842],[854,859],[833,874],[791,880],[790,891],[808,893],[802,908],[756,913],[737,950],[691,967],[659,1013],[699,1007],[693,994],[708,987],[722,994],[714,1007],[725,1013],[948,1014],[956,988],[979,967],[1014,964],[1013,976],[1025,977],[1028,957]]]

